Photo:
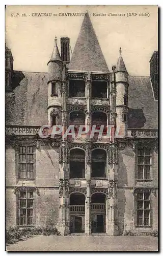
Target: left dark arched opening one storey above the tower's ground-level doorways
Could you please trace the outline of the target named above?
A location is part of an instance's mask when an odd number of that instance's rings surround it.
[[[79,148],[70,151],[70,178],[85,178],[85,152]]]

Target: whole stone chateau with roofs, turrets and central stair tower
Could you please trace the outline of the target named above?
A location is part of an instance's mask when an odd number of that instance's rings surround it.
[[[129,76],[121,49],[109,71],[88,14],[71,59],[69,49],[61,37],[60,55],[56,38],[48,73],[34,73],[14,71],[6,47],[6,227],[157,229],[158,52],[150,77]],[[38,135],[56,124],[74,125],[75,137]],[[106,135],[110,124],[118,137],[77,136],[79,125],[104,125]]]

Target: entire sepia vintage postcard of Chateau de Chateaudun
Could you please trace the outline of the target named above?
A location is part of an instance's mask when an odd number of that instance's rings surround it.
[[[6,250],[158,250],[158,6],[6,6]]]

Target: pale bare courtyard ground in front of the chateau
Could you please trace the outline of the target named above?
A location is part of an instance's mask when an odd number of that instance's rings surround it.
[[[7,251],[157,251],[151,236],[35,236],[7,245]]]

